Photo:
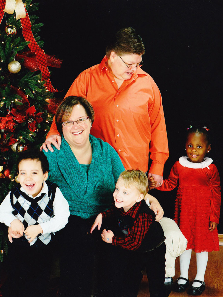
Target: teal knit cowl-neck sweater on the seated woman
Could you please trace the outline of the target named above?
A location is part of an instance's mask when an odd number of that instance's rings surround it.
[[[93,218],[110,207],[115,183],[124,171],[110,144],[89,135],[92,161],[88,173],[78,163],[62,135],[60,150],[45,152],[50,165],[48,179],[58,185],[69,203],[70,214]]]

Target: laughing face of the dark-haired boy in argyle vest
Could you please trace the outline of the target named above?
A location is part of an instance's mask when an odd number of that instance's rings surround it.
[[[24,159],[18,165],[18,180],[29,195],[36,197],[42,190],[43,181],[47,180],[48,172],[43,173],[41,162],[37,159]]]

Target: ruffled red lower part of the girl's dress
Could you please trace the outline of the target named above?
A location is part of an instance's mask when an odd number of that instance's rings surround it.
[[[179,187],[174,220],[186,237],[187,249],[194,252],[219,251],[217,229],[209,231],[210,189],[197,187],[196,199],[192,187]]]

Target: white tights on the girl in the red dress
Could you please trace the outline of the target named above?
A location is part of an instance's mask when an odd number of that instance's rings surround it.
[[[187,249],[182,255],[180,255],[180,277],[184,277],[188,279],[188,269],[190,264],[190,258],[191,258],[191,249]],[[196,253],[196,260],[197,260],[197,274],[195,279],[198,279],[200,281],[204,281],[204,274],[206,270],[206,266],[208,263],[208,252],[201,252]],[[179,279],[178,284],[186,284],[186,281],[184,279]],[[194,287],[200,287],[200,282],[193,282],[192,286]]]

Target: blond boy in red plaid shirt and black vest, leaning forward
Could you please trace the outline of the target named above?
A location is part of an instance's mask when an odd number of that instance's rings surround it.
[[[147,267],[150,297],[165,296],[165,236],[143,199],[147,192],[145,173],[122,172],[112,207],[100,213],[91,227],[91,232],[96,227],[104,229],[97,297],[137,297],[143,266]]]

